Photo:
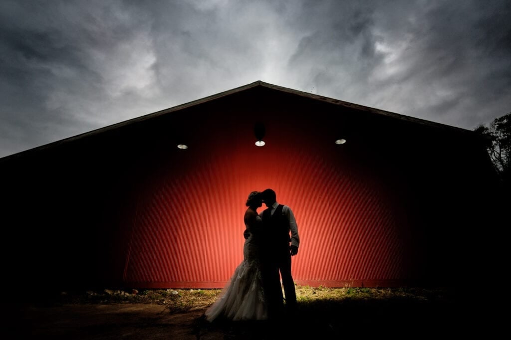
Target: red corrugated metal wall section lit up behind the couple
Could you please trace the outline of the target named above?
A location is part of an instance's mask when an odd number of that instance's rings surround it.
[[[396,195],[385,164],[360,162],[356,153],[367,150],[356,140],[335,144],[328,124],[311,123],[308,115],[277,113],[271,106],[259,114],[218,111],[202,111],[200,123],[193,116],[184,120],[189,125],[183,129],[195,130],[188,135],[190,148],[166,145],[166,155],[137,186],[136,208],[124,213],[129,247],[118,260],[124,283],[222,287],[242,260],[248,193],[266,188],[296,216],[297,283],[367,286],[413,279],[407,198]],[[267,126],[262,148],[254,145],[259,120]]]

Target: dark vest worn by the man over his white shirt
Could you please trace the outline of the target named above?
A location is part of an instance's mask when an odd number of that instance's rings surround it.
[[[273,215],[270,214],[270,209],[263,211],[263,224],[265,229],[265,236],[267,245],[273,249],[289,249],[289,220],[283,213],[282,208],[284,205],[279,204]]]

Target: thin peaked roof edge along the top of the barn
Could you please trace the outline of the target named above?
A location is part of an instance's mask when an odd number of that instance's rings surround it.
[[[227,90],[227,91],[223,91],[223,92],[219,92],[219,93],[216,93],[216,94],[213,94],[213,95],[209,95],[209,96],[206,96],[204,98],[197,99],[195,101],[191,101],[191,102],[188,102],[188,103],[184,103],[184,104],[180,104],[180,105],[177,105],[177,106],[173,106],[173,107],[168,108],[168,109],[164,109],[164,110],[148,113],[148,114],[145,114],[145,115],[142,115],[142,116],[139,116],[139,117],[135,117],[135,118],[131,118],[131,119],[128,119],[128,120],[124,120],[123,122],[120,122],[120,123],[115,123],[115,124],[112,124],[112,125],[109,125],[109,126],[106,126],[106,127],[103,127],[103,128],[98,128],[98,129],[91,130],[91,131],[88,131],[88,132],[84,132],[84,133],[81,133],[81,134],[78,134],[78,135],[75,135],[75,136],[72,136],[72,137],[67,137],[67,138],[60,139],[60,140],[57,140],[57,141],[54,141],[54,142],[51,142],[51,143],[48,143],[48,144],[44,144],[44,145],[41,145],[39,147],[35,147],[35,148],[32,148],[32,149],[29,149],[29,150],[21,151],[19,153],[13,154],[13,155],[9,155],[9,156],[0,158],[0,160],[6,160],[8,158],[16,157],[16,156],[19,156],[19,155],[22,155],[22,154],[26,154],[28,152],[34,152],[34,151],[37,151],[37,150],[47,149],[47,148],[50,148],[50,147],[53,147],[53,146],[56,146],[56,145],[59,145],[59,144],[62,144],[62,143],[71,142],[73,140],[81,139],[81,138],[88,137],[88,136],[91,136],[91,135],[100,134],[100,133],[103,133],[103,132],[106,132],[106,131],[110,131],[110,130],[113,130],[113,129],[117,129],[117,128],[120,128],[120,127],[132,125],[132,124],[135,124],[135,123],[138,123],[138,122],[143,122],[144,120],[147,120],[147,119],[151,119],[151,118],[158,117],[158,116],[161,116],[161,115],[165,115],[165,114],[168,114],[168,113],[171,113],[171,112],[179,111],[179,110],[182,110],[182,109],[185,109],[185,108],[188,108],[188,107],[192,107],[192,106],[196,106],[196,105],[199,105],[199,104],[211,102],[211,101],[223,98],[225,96],[228,96],[228,95],[231,95],[231,94],[234,94],[234,93],[238,93],[238,92],[242,92],[242,91],[254,88],[254,87],[265,87],[265,88],[269,88],[269,89],[273,89],[273,90],[277,90],[277,91],[282,91],[282,92],[285,92],[285,93],[290,93],[290,94],[298,95],[298,96],[305,97],[305,98],[308,98],[308,99],[321,101],[321,102],[324,102],[324,103],[330,103],[330,104],[333,104],[333,105],[338,105],[340,107],[355,109],[355,110],[364,111],[364,112],[368,112],[368,113],[372,113],[372,114],[376,114],[376,115],[383,115],[383,116],[387,116],[387,117],[391,117],[391,118],[396,118],[396,119],[404,120],[404,121],[411,122],[411,123],[431,126],[431,127],[435,127],[435,128],[448,129],[448,130],[452,130],[453,132],[475,134],[475,132],[471,131],[471,130],[467,130],[467,129],[463,129],[463,128],[458,128],[458,127],[454,127],[454,126],[450,126],[450,125],[445,125],[445,124],[441,124],[441,123],[435,123],[435,122],[431,122],[430,120],[421,119],[421,118],[415,118],[415,117],[411,117],[411,116],[407,116],[407,115],[404,115],[404,114],[399,114],[399,113],[395,113],[395,112],[391,112],[391,111],[380,110],[380,109],[369,107],[369,106],[364,106],[364,105],[354,104],[354,103],[350,103],[350,102],[345,102],[345,101],[329,98],[329,97],[318,95],[318,94],[313,94],[313,93],[309,93],[309,92],[294,90],[294,89],[283,87],[283,86],[278,86],[278,85],[273,85],[273,84],[265,83],[265,82],[259,80],[259,81],[255,81],[255,82],[247,84],[247,85],[243,85],[243,86],[236,87],[236,88],[233,88],[233,89],[230,89],[230,90]]]

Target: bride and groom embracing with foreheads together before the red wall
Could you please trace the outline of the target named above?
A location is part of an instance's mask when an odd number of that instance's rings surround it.
[[[258,213],[263,202],[267,208]],[[291,256],[300,239],[293,211],[277,202],[272,189],[250,192],[245,205],[243,261],[204,312],[210,322],[277,320],[296,311]]]

